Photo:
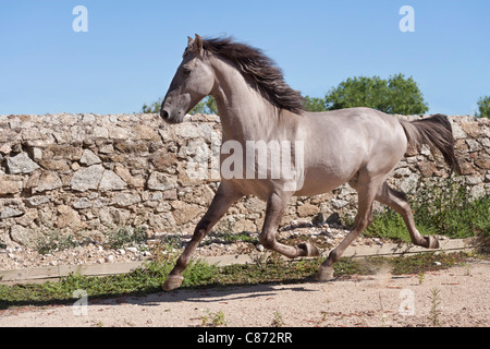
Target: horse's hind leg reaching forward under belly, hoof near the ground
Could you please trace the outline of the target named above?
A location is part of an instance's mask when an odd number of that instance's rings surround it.
[[[366,229],[372,221],[372,202],[381,185],[381,180],[360,173],[359,180],[353,183],[358,193],[358,212],[354,221],[354,229],[333,249],[329,257],[320,265],[317,273],[318,281],[328,281],[333,278],[333,264],[339,261],[347,246]]]

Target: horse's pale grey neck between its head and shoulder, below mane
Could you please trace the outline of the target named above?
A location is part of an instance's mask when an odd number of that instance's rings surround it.
[[[217,87],[212,92],[223,128],[223,140],[267,141],[279,122],[279,110],[253,88],[230,64],[215,64]]]

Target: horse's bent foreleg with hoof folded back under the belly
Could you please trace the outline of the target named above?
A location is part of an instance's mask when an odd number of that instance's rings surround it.
[[[318,249],[309,242],[303,242],[297,246],[290,246],[275,241],[275,233],[287,207],[289,198],[289,194],[281,195],[273,193],[269,196],[267,201],[266,218],[260,233],[260,243],[266,249],[281,253],[289,258],[319,255]]]

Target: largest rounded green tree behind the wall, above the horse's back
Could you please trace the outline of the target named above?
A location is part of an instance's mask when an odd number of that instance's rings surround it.
[[[414,115],[429,110],[417,83],[403,74],[350,77],[326,95],[327,110],[369,107],[387,113]]]

